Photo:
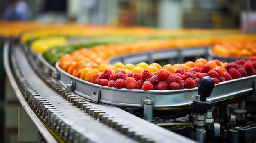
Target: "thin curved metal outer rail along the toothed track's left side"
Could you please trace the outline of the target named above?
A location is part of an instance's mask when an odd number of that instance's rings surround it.
[[[10,48],[11,40],[7,40],[4,43],[4,69],[7,73],[7,77],[11,83],[11,86],[18,97],[18,100],[20,101],[21,106],[25,109],[27,114],[29,115],[30,119],[35,123],[36,127],[38,128],[38,132],[40,132],[41,136],[43,136],[43,139],[48,143],[58,143],[56,139],[52,136],[52,134],[47,130],[45,125],[38,119],[34,111],[30,108],[30,106],[27,104],[25,98],[23,97],[22,93],[20,92],[18,85],[16,84],[16,81],[13,77],[10,63],[9,63],[9,48]]]

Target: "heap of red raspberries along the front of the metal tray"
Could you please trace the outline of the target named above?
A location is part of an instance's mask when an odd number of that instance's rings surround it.
[[[209,64],[204,64],[201,68],[193,67],[190,70],[179,68],[175,73],[170,73],[167,69],[160,69],[152,74],[149,70],[143,73],[128,73],[124,70],[113,73],[107,69],[99,72],[92,77],[92,83],[102,86],[127,89],[142,90],[178,90],[184,88],[195,88],[200,79],[204,76],[213,78],[215,84],[231,79],[246,77],[256,74],[256,59],[236,60],[228,63],[223,68],[211,68]]]

